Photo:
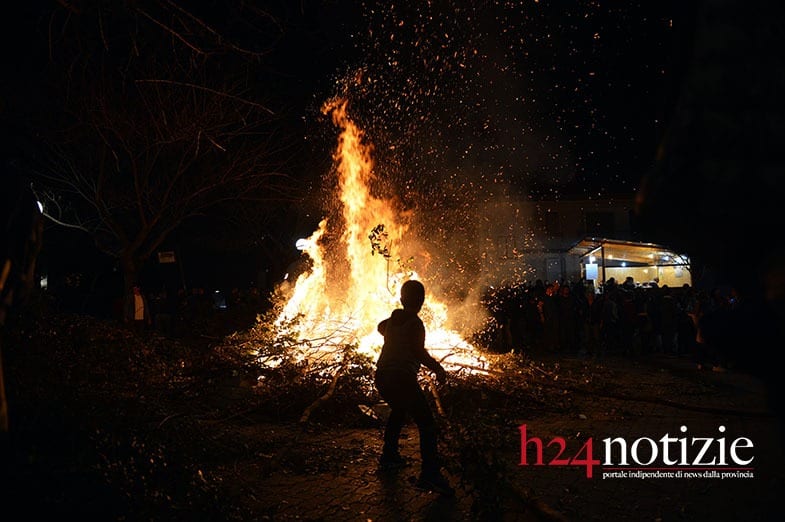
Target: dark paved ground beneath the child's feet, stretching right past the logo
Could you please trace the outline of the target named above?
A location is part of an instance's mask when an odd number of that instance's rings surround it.
[[[579,359],[564,360],[562,364],[564,368],[570,365],[587,367],[587,363]],[[448,446],[449,441],[444,443],[447,474],[456,487],[454,498],[412,487],[411,479],[416,474],[419,459],[417,432],[413,427],[405,430],[407,439],[402,451],[415,465],[398,472],[380,473],[376,469],[375,459],[380,448],[378,427],[292,435],[296,433],[293,428],[271,425],[270,430],[281,430],[281,437],[302,437],[304,455],[299,458],[311,459],[313,463],[337,457],[343,459],[343,463],[326,465],[323,471],[318,465],[311,465],[308,472],[258,476],[265,461],[281,458],[271,448],[269,453],[262,452],[235,463],[232,470],[207,471],[207,479],[210,480],[210,474],[214,473],[216,477],[223,477],[222,480],[244,481],[237,494],[246,498],[235,500],[252,503],[253,511],[260,519],[271,520],[719,521],[778,518],[779,499],[785,492],[783,431],[778,418],[769,411],[760,381],[735,371],[701,372],[685,359],[656,356],[634,361],[609,359],[600,362],[597,371],[606,380],[600,386],[601,391],[597,392],[595,385],[594,392],[583,394],[572,387],[569,394],[573,403],[568,415],[537,413],[529,417],[527,411],[534,410],[521,404],[520,417],[506,423],[509,438],[496,441],[495,447],[489,448],[487,458],[493,463],[484,470],[484,475],[480,475],[481,482],[476,474],[471,480],[460,476],[460,470],[467,468],[455,465],[457,462],[450,462],[450,459],[457,461],[461,455]],[[449,394],[443,399],[448,402]],[[577,453],[588,439],[593,441],[594,458],[602,460],[603,438],[622,437],[629,444],[642,437],[659,441],[665,434],[683,437],[680,428],[686,426],[687,435],[694,437],[719,439],[724,435],[726,455],[733,440],[746,437],[754,447],[738,451],[741,456],[751,455],[754,459],[744,466],[729,462],[729,466],[722,468],[729,473],[725,478],[709,478],[716,469],[712,466],[678,466],[683,472],[681,478],[640,478],[634,474],[611,478],[606,473],[624,468],[599,464],[594,466],[590,479],[585,466],[520,466],[518,426],[524,423],[528,436],[539,437],[545,444],[554,437],[563,437],[566,443],[563,456],[567,457]],[[724,433],[719,431],[721,426]],[[644,448],[650,443],[639,444]],[[531,461],[535,455],[533,445],[530,446]],[[678,452],[676,443],[671,445],[670,451]],[[547,463],[556,456],[556,446],[546,445],[544,452]],[[713,442],[707,454],[711,452],[714,455],[722,452],[718,442]],[[689,454],[693,459],[694,451],[690,450]],[[640,459],[645,461],[643,456]],[[631,463],[630,467],[633,466],[644,467]],[[655,466],[647,470],[654,472]],[[731,470],[740,467],[745,469]],[[676,472],[673,468],[661,471]],[[696,475],[687,478],[691,471]]]

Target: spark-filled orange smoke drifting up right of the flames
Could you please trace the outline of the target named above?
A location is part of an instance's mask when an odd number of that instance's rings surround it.
[[[640,146],[631,146],[634,132],[611,132],[600,102],[620,73],[608,69],[636,31],[660,31],[650,38],[656,50],[668,19],[634,3],[460,4],[362,2],[352,35],[361,58],[335,95],[373,144],[372,193],[394,201],[417,238],[401,258],[450,302],[451,318],[470,323],[484,315],[477,303],[490,286],[527,279],[534,227],[511,201],[624,184],[618,173]],[[509,223],[504,237],[488,236],[494,223]]]

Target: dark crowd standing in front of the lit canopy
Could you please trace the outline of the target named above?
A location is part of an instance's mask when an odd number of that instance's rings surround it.
[[[506,287],[486,304],[498,335],[496,351],[603,357],[660,353],[690,357],[700,369],[735,362],[741,299],[733,288],[670,288],[610,278],[599,291],[584,281]]]

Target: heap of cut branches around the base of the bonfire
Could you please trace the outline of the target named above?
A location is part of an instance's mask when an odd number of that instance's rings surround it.
[[[88,316],[18,319],[3,332],[11,433],[0,478],[44,518],[238,518],[203,472],[247,459],[239,420],[383,422],[373,361],[352,345],[280,332],[268,316],[230,335],[187,339],[139,336]],[[502,491],[488,484],[504,483],[496,446],[515,423],[572,407],[560,375],[512,354],[496,357],[485,374],[454,372],[443,387],[423,375],[448,461],[482,499],[478,515]]]

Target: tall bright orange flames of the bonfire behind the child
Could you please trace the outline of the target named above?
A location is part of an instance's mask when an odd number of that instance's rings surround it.
[[[408,225],[400,223],[402,215],[394,210],[395,205],[371,194],[369,187],[375,179],[371,147],[347,116],[346,105],[345,100],[337,99],[322,109],[342,129],[334,154],[344,221],[340,245],[323,244],[328,223],[322,220],[303,250],[311,268],[284,296],[288,300],[276,328],[312,350],[336,351],[356,345],[360,353],[375,359],[383,342],[377,324],[400,307],[401,284],[419,279],[400,257],[394,259],[392,252],[417,241],[407,237]],[[426,295],[420,316],[426,328],[426,347],[446,367],[486,366],[471,344],[446,328],[445,304]],[[296,325],[287,326],[298,317]]]

